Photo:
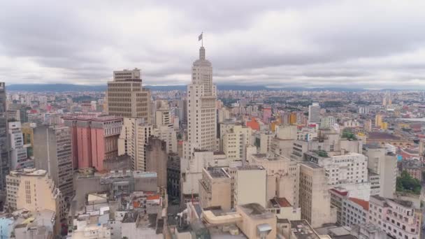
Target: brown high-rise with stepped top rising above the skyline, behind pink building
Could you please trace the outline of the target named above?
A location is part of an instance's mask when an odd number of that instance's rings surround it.
[[[136,117],[150,122],[150,91],[143,88],[141,71],[114,71],[114,80],[108,82],[106,91],[108,114]]]

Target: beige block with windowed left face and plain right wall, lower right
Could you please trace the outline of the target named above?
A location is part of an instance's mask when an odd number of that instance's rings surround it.
[[[335,222],[336,210],[334,213],[331,210],[331,194],[324,168],[310,162],[299,164],[301,219],[307,220],[313,228]]]

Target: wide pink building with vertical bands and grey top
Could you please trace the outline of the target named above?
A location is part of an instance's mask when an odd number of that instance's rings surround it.
[[[64,117],[71,128],[75,168],[103,171],[103,161],[118,156],[122,118],[111,115],[71,115]]]

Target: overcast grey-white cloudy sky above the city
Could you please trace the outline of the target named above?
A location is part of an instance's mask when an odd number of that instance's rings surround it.
[[[184,85],[204,32],[217,84],[425,89],[425,1],[0,1],[0,80]]]

